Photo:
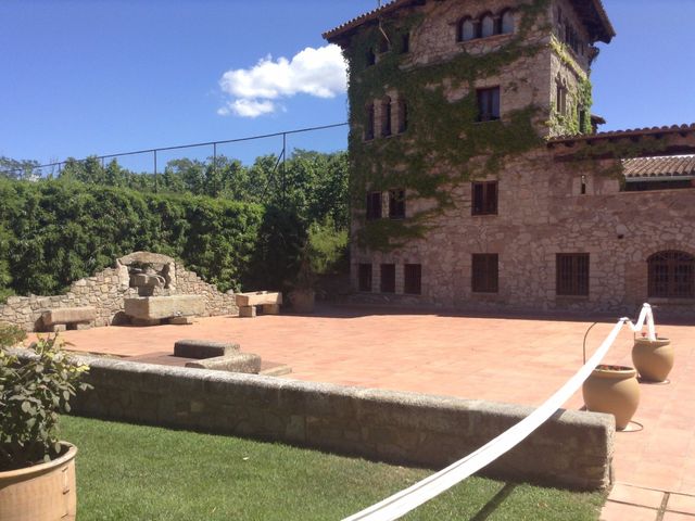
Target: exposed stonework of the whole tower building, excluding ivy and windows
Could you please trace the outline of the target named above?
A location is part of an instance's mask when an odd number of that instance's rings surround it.
[[[428,67],[446,63],[462,53],[484,56],[504,50],[519,30],[523,9],[532,4],[543,7],[534,23],[525,29],[521,42],[521,47],[534,46],[538,50],[520,53],[519,58],[492,75],[476,77],[470,82],[443,79],[437,87],[443,87],[443,96],[450,103],[469,94],[471,88],[500,87],[500,119],[504,123],[514,111],[534,107],[536,111],[530,117],[539,137],[545,141],[531,150],[507,154],[498,168],[486,171],[482,177],[471,176],[464,182],[454,181],[459,173],[451,166],[429,164],[422,176],[444,174],[452,178],[445,190],[452,196],[453,206],[433,212],[428,217],[425,236],[408,239],[396,249],[362,247],[353,241],[352,281],[361,300],[464,309],[616,314],[631,314],[648,300],[661,307],[659,313],[693,313],[695,295],[692,298],[650,297],[647,262],[653,254],[666,251],[683,252],[693,256],[695,262],[695,228],[692,226],[695,189],[623,191],[622,163],[617,150],[629,150],[629,156],[693,153],[695,132],[693,128],[665,129],[664,132],[645,129],[648,131],[642,134],[596,135],[595,140],[582,140],[580,136],[563,141],[557,137],[574,128],[563,120],[558,123],[558,86],[566,90],[568,120],[572,119],[577,126],[580,110],[589,109],[580,106],[580,90],[596,53],[593,46],[597,40],[608,42],[614,36],[603,8],[598,9],[601,2],[583,2],[593,4],[596,11],[592,12],[590,5],[582,13],[574,9],[577,3],[572,0],[399,0],[392,7],[355,18],[325,35],[329,41],[350,51],[359,45],[361,38],[365,38],[364,35],[378,21],[395,21],[397,26],[400,20],[420,16],[409,33],[409,51],[402,61],[401,69],[410,75],[426,74]],[[467,16],[480,20],[486,12],[498,15],[506,9],[514,10],[515,33],[457,41],[459,20]],[[587,20],[587,16],[593,18]],[[350,52],[346,55],[350,56]],[[378,60],[374,67],[379,67]],[[358,72],[351,81],[351,89],[361,88],[361,74],[374,73]],[[406,75],[403,78],[407,80]],[[397,98],[400,89],[397,85],[387,85],[384,90],[393,99]],[[375,106],[379,122],[379,105]],[[362,107],[351,110],[354,114]],[[393,112],[392,117],[395,117]],[[417,118],[418,114],[408,114],[408,117]],[[586,120],[589,114],[582,117]],[[355,135],[365,134],[359,118],[352,117],[351,120]],[[469,128],[463,123],[462,126]],[[452,132],[456,131],[452,128]],[[477,129],[466,131],[472,134]],[[470,136],[459,132],[458,137],[466,140]],[[380,138],[377,130],[375,142],[379,139],[405,140],[410,150],[416,150],[419,137],[405,132]],[[377,147],[382,145],[377,143],[374,149],[361,147],[369,154],[369,150],[378,150]],[[596,150],[601,148],[607,152],[598,153]],[[355,151],[351,150],[351,153]],[[489,158],[472,157],[468,165],[479,166]],[[376,161],[382,160],[372,163]],[[394,163],[381,163],[379,168],[388,170],[391,167],[392,171],[400,171],[403,158],[391,161]],[[489,215],[475,215],[479,213],[472,211],[473,183],[480,181],[496,182],[496,208]],[[389,188],[405,188],[406,221],[437,206],[432,199],[418,196],[407,186]],[[381,218],[389,218],[390,194],[388,190],[381,193]],[[357,200],[366,195],[353,193]],[[353,237],[365,228],[365,219],[364,209],[353,212]],[[480,254],[497,256],[495,291],[473,291],[473,255]],[[563,254],[589,255],[589,268],[582,271],[589,279],[585,294],[567,295],[558,290],[558,255]],[[382,291],[380,271],[383,265],[395,265],[395,291],[391,291],[390,284],[389,291]],[[421,269],[420,288],[415,294],[405,294],[406,265]],[[359,270],[369,266],[371,289],[364,291],[361,289]],[[389,271],[389,280],[391,274]]]

